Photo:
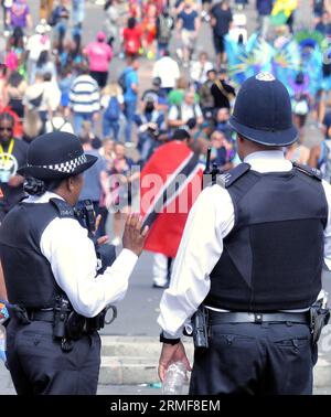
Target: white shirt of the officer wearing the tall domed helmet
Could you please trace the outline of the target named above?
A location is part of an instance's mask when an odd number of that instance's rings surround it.
[[[282,151],[261,151],[244,160],[252,170],[285,172],[292,163]],[[324,263],[331,269],[331,185],[322,181],[329,212],[324,229]],[[210,274],[223,253],[223,239],[234,227],[232,199],[220,185],[202,191],[193,204],[173,265],[170,288],[163,292],[158,323],[168,338],[180,338],[185,322],[205,299],[211,288]]]

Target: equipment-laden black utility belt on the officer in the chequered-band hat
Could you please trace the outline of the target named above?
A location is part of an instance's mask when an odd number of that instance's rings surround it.
[[[111,310],[111,314],[108,311]],[[117,317],[115,306],[108,306],[94,318],[86,318],[73,310],[65,296],[56,297],[55,307],[50,310],[29,310],[18,304],[9,306],[11,317],[14,317],[22,324],[30,324],[31,321],[45,321],[53,324],[53,339],[61,341],[64,352],[74,348],[75,341],[84,334],[92,334],[110,324]]]

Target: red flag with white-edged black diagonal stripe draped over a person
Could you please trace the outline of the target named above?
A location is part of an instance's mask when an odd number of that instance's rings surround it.
[[[156,150],[140,177],[140,213],[148,225],[145,249],[174,258],[192,204],[202,190],[204,167],[182,141]]]

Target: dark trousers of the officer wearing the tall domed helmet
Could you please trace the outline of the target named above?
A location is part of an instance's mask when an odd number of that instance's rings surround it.
[[[194,353],[191,395],[312,394],[309,325],[216,324],[210,334],[210,349]]]

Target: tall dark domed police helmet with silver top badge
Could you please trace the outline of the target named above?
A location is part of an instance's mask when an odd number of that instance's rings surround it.
[[[269,73],[246,79],[229,124],[244,138],[265,146],[286,147],[298,138],[289,94]]]

